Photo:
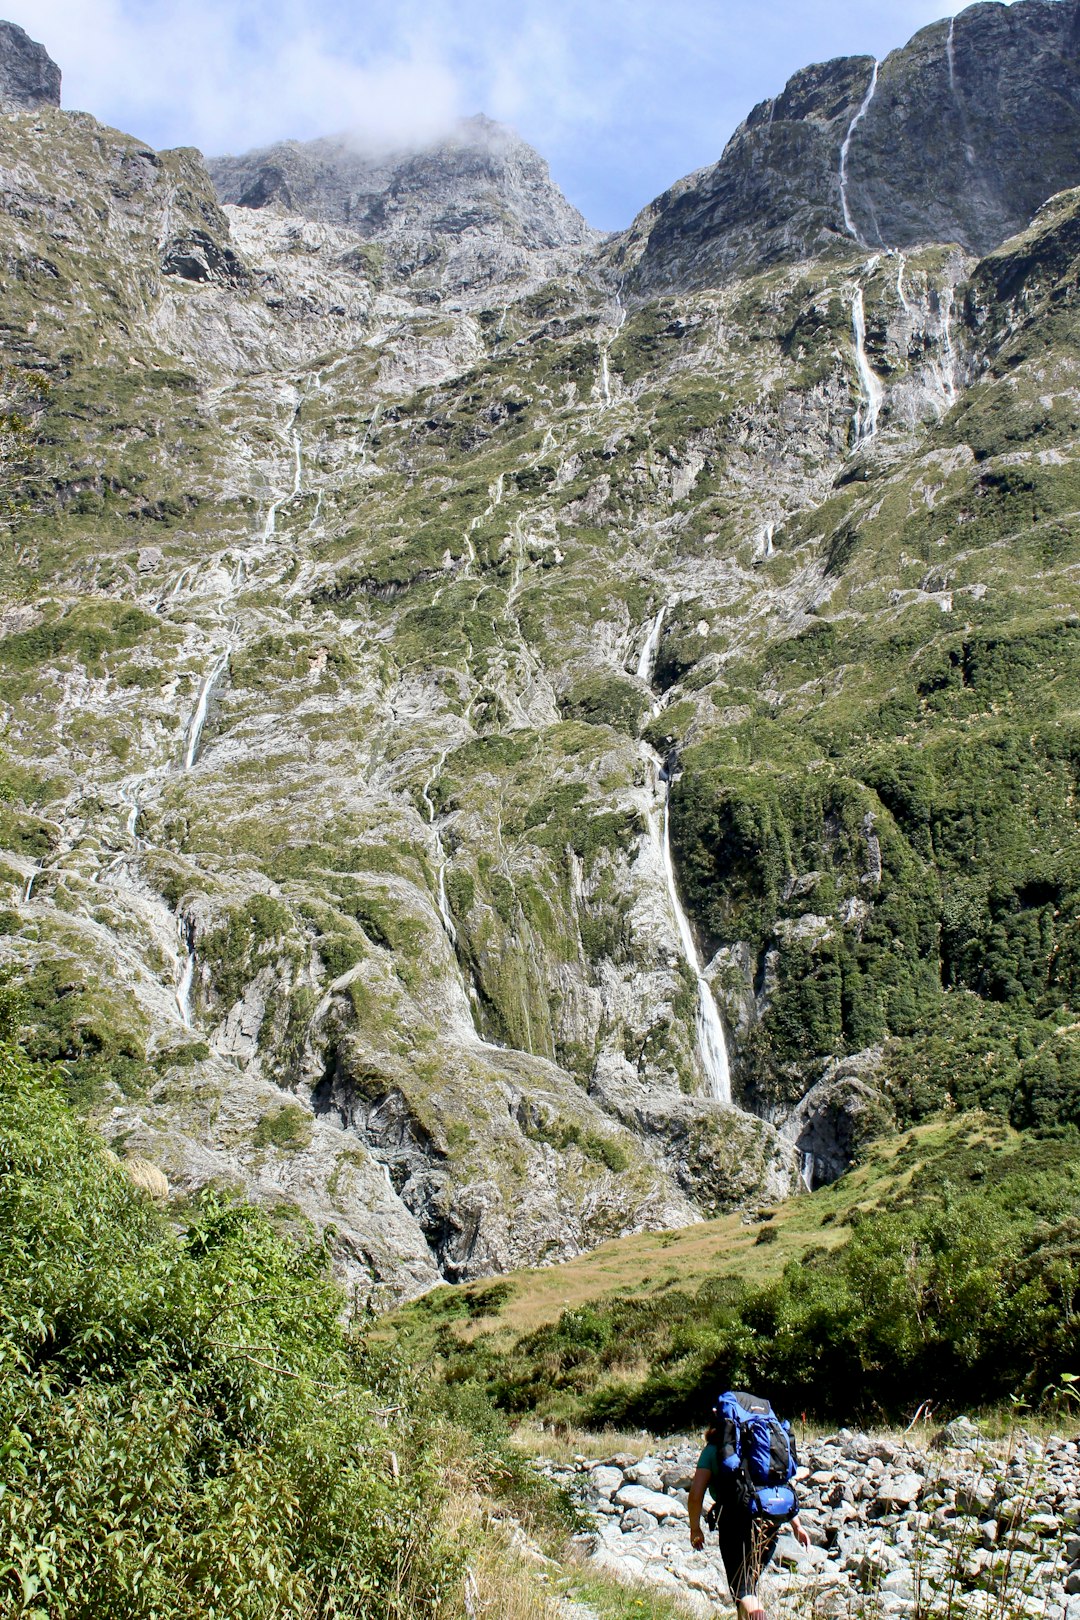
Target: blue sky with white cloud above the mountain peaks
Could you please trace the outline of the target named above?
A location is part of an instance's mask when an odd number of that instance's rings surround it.
[[[210,156],[355,130],[381,149],[457,117],[513,125],[589,224],[619,230],[716,162],[800,66],[884,57],[949,0],[5,0],[63,105]]]

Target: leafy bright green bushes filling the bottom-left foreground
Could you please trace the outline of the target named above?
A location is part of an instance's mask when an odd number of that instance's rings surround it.
[[[178,1233],[10,1047],[0,1103],[3,1612],[445,1614],[440,1424],[322,1249],[214,1197]]]

